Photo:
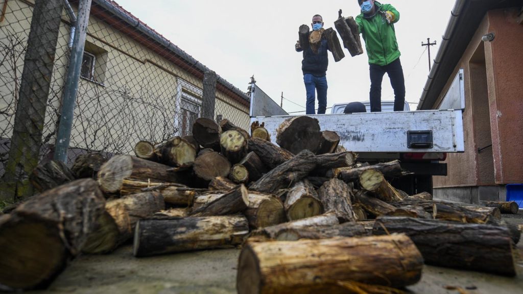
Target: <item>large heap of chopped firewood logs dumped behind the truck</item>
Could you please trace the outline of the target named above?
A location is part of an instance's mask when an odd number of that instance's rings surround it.
[[[137,257],[243,244],[240,293],[395,293],[424,263],[515,275],[520,231],[500,212],[515,203],[407,195],[386,180],[405,174],[399,161],[358,163],[314,118],[283,122],[278,145],[263,125],[250,133],[200,118],[137,156],[39,166],[42,193],[0,217],[0,288],[45,286],[78,254],[130,241]]]

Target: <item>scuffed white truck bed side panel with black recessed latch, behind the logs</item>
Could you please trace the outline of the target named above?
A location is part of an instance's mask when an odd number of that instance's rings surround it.
[[[276,130],[291,116],[252,117],[265,122],[272,142]],[[340,145],[358,153],[384,152],[464,152],[461,110],[370,112],[359,114],[314,115],[322,131],[335,131]],[[408,148],[408,131],[432,131],[432,148]]]

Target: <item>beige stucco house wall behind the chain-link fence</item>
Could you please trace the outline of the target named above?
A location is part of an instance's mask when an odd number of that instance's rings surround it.
[[[5,35],[9,30],[27,40],[31,15],[32,8],[26,2],[10,1],[6,19],[0,27],[0,40],[6,39]],[[60,110],[64,76],[69,60],[69,26],[66,22],[67,18],[64,15],[56,50],[44,136],[55,130],[54,125]],[[95,71],[99,71],[102,63],[105,63],[105,66],[102,66],[105,67],[105,71],[103,74],[97,72],[95,78],[103,77],[103,80],[98,80],[99,83],[82,78],[78,85],[71,147],[131,153],[134,144],[139,140],[160,142],[177,134],[179,126],[175,123],[182,119],[179,109],[180,91],[201,99],[202,81],[108,26],[96,15],[92,14],[90,17],[87,31],[87,42],[103,52],[98,54],[98,67],[95,65]],[[106,55],[103,56],[104,54]],[[19,76],[22,68],[23,59],[15,66]],[[8,69],[3,67],[1,70]],[[12,80],[0,85],[2,109],[8,105],[13,106],[16,91],[15,79]],[[179,82],[180,80],[184,83]],[[182,84],[189,86],[181,86]],[[239,127],[247,129],[248,106],[220,91],[217,91],[216,96],[215,114],[221,114]],[[9,111],[13,111],[14,114],[14,107]],[[0,117],[0,130],[5,130],[4,134],[1,134],[4,138],[10,137],[13,117]],[[49,143],[52,144],[54,138],[55,135],[51,135]]]

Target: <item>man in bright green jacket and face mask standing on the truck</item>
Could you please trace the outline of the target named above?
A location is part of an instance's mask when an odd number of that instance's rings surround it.
[[[381,82],[387,73],[394,89],[394,111],[402,111],[405,104],[405,78],[400,62],[394,24],[400,13],[390,4],[374,0],[358,0],[361,14],[356,23],[367,48],[370,67],[370,111],[381,111]]]

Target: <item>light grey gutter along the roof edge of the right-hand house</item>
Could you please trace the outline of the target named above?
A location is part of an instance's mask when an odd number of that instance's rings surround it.
[[[423,103],[425,102],[425,98],[428,95],[428,92],[430,91],[430,88],[432,87],[432,84],[434,82],[434,77],[436,76],[437,72],[439,71],[439,65],[441,63],[441,59],[443,59],[443,56],[447,54],[447,50],[449,47],[449,42],[452,39],[452,34],[454,33],[454,30],[456,29],[456,26],[458,24],[458,19],[461,15],[461,12],[463,10],[463,7],[465,6],[465,3],[467,3],[468,0],[457,0],[456,4],[454,4],[454,8],[452,9],[449,24],[447,25],[447,29],[445,30],[445,34],[442,36],[443,41],[441,42],[441,46],[439,47],[438,54],[436,55],[436,58],[434,59],[434,66],[432,67],[432,70],[430,71],[428,75],[427,83],[425,84],[425,87],[423,88],[423,94],[422,97],[419,99],[419,104],[417,107],[417,110],[421,110]]]

